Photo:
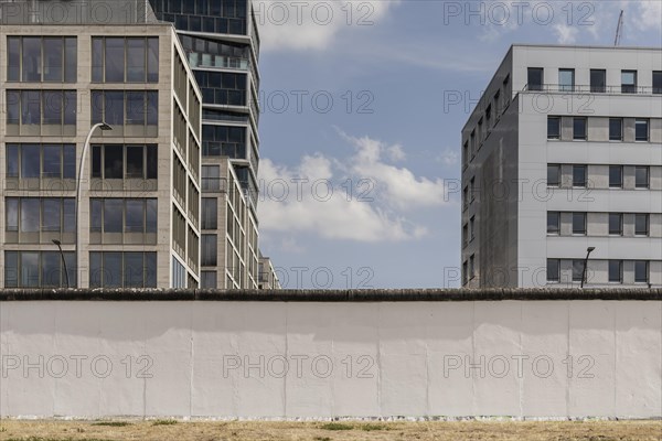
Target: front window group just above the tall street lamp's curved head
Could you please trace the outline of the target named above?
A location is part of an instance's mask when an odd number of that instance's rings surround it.
[[[156,90],[93,90],[92,122],[110,126],[157,126],[159,93]]]

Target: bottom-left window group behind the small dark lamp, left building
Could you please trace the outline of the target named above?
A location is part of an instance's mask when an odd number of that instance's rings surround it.
[[[58,251],[6,251],[4,288],[76,287],[75,252],[64,251],[67,273]]]

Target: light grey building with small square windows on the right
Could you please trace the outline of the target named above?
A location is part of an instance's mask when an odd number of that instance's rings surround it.
[[[462,129],[461,217],[463,287],[661,286],[662,50],[513,45]]]

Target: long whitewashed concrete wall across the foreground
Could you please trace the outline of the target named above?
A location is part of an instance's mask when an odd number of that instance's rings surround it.
[[[2,417],[662,415],[659,292],[649,301],[8,299]]]

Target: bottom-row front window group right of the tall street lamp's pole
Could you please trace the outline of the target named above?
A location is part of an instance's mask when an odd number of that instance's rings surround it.
[[[89,288],[157,288],[157,254],[90,252]]]

